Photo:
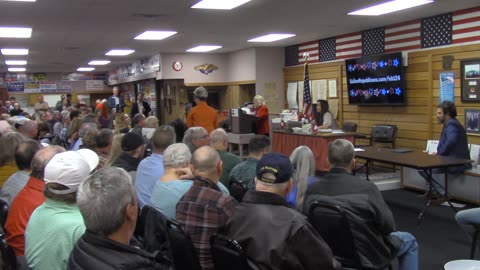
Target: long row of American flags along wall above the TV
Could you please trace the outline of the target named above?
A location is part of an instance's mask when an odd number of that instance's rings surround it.
[[[285,48],[285,65],[357,58],[362,55],[413,51],[451,44],[480,42],[480,7],[441,14],[306,42]]]

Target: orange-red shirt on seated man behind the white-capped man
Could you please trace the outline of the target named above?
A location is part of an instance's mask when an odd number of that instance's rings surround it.
[[[5,222],[5,231],[7,243],[12,247],[15,256],[24,256],[25,229],[33,211],[45,201],[44,186],[43,180],[30,177],[10,206]]]

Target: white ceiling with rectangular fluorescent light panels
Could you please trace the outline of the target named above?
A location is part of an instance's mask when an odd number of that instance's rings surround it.
[[[344,33],[478,6],[478,0],[437,0],[433,4],[379,17],[346,13],[379,0],[251,0],[236,9],[198,10],[198,0],[37,0],[0,1],[0,26],[32,27],[30,39],[0,38],[0,48],[26,47],[27,72],[72,72],[92,59],[110,59],[98,70],[156,53],[183,53],[199,44],[218,44],[226,53],[256,46],[285,47]],[[145,30],[174,30],[162,41],[138,41]],[[269,44],[248,39],[271,32],[295,33]],[[106,57],[112,48],[132,48],[128,57]],[[2,58],[3,57],[3,58]],[[0,56],[0,72],[5,59]],[[22,58],[23,59],[23,58]]]

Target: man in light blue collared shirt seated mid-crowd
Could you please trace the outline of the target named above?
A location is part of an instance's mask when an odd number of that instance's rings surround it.
[[[138,165],[135,179],[135,189],[140,208],[150,204],[155,183],[164,174],[163,151],[175,143],[175,131],[171,126],[161,126],[155,130],[152,137],[153,152]]]

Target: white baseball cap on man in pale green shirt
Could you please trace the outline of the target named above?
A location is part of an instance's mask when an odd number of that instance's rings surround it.
[[[98,165],[98,155],[90,149],[58,153],[45,167],[44,181],[58,183],[68,187],[66,190],[49,190],[55,194],[69,194],[77,191],[78,186]]]

